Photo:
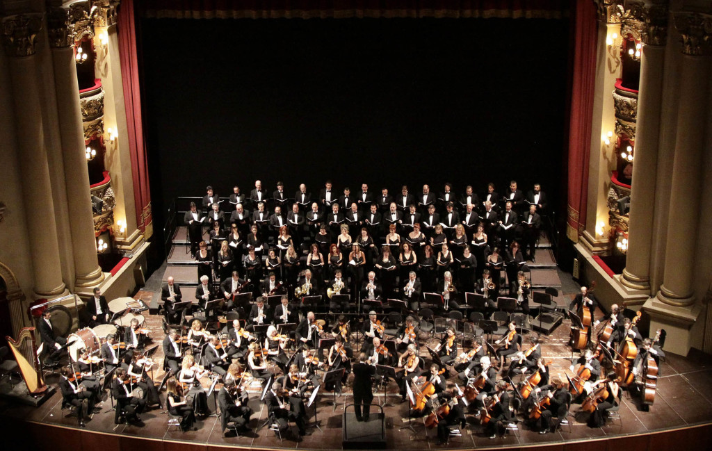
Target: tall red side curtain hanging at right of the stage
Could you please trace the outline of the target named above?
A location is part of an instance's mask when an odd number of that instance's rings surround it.
[[[596,80],[598,24],[593,1],[577,1],[575,28],[566,235],[577,242],[586,227],[588,159]]]

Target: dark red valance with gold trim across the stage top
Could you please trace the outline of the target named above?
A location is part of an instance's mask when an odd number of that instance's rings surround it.
[[[146,0],[156,18],[561,18],[570,0]]]

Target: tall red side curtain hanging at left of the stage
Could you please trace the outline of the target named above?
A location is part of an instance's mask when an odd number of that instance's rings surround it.
[[[133,177],[134,199],[136,202],[136,222],[138,228],[146,233],[152,221],[151,192],[148,184],[148,163],[146,142],[143,133],[141,115],[141,92],[139,86],[138,62],[136,51],[136,26],[132,0],[122,1],[117,18],[119,40],[119,59],[121,61],[121,84],[126,107],[126,125],[128,129],[129,152],[131,155],[131,173]],[[150,238],[152,228],[148,228]]]

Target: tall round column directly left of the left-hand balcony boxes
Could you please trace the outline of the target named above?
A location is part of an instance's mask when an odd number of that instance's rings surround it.
[[[74,250],[74,286],[92,287],[102,282],[104,275],[96,253],[70,10],[50,9],[47,22]]]

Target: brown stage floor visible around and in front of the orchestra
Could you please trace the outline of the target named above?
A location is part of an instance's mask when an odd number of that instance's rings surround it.
[[[150,296],[150,292],[139,292],[137,297]],[[566,295],[570,299],[570,295]],[[154,344],[160,344],[162,331],[161,318],[147,315],[145,326],[152,331]],[[568,339],[567,320],[563,322],[550,336],[543,338],[543,356],[552,359],[550,366],[553,374],[562,373],[570,364],[571,352],[565,345]],[[429,344],[434,344],[431,339]],[[161,361],[160,347],[155,354],[155,360]],[[660,373],[654,405],[649,412],[639,410],[637,399],[624,392],[623,402],[620,407],[621,420],[607,423],[603,428],[589,428],[585,415],[579,415],[580,405],[572,405],[570,412],[570,426],[563,426],[555,433],[540,435],[529,430],[523,423],[519,423],[516,433],[510,432],[506,437],[490,440],[482,433],[482,428],[472,415],[467,415],[468,426],[462,431],[461,437],[452,437],[446,447],[436,444],[436,431],[426,430],[423,420],[413,420],[416,433],[410,430],[400,430],[405,423],[402,418],[407,417],[407,403],[400,403],[397,386],[390,383],[385,400],[384,415],[386,416],[387,448],[391,450],[404,448],[430,449],[430,448],[473,448],[473,447],[522,447],[526,445],[554,445],[562,442],[580,440],[600,440],[625,435],[639,435],[651,432],[660,432],[676,428],[686,428],[691,425],[712,423],[712,356],[693,350],[689,356],[676,356],[667,354],[666,360],[661,362]],[[155,381],[160,381],[162,371],[155,372]],[[48,384],[56,384],[58,376],[48,376]],[[2,383],[6,383],[3,379]],[[312,435],[303,437],[300,441],[294,435],[283,437],[283,442],[275,433],[266,428],[260,428],[266,418],[266,408],[258,400],[258,386],[251,389],[251,408],[254,414],[250,423],[253,432],[241,437],[223,437],[215,417],[199,420],[197,430],[182,433],[177,428],[167,428],[168,415],[162,410],[154,409],[142,414],[145,426],[138,428],[132,425],[114,425],[114,413],[111,409],[109,398],[99,405],[100,413],[93,415],[87,423],[87,430],[98,433],[117,434],[127,437],[142,437],[152,440],[169,440],[178,442],[193,442],[202,445],[236,445],[239,447],[264,447],[264,448],[304,448],[304,449],[342,449],[342,413],[344,404],[352,403],[350,381],[345,387],[344,396],[337,398],[337,405],[333,405],[333,395],[323,393],[316,402],[318,420],[323,432],[313,429]],[[164,393],[162,393],[164,399]],[[383,403],[382,393],[375,396],[374,403]],[[211,409],[213,400],[210,400]],[[352,411],[350,408],[349,411]],[[313,410],[310,409],[310,412]],[[67,416],[68,410],[61,410],[61,394],[55,393],[46,403],[38,408],[26,405],[17,405],[7,400],[0,400],[0,417],[8,419],[26,420],[46,425],[61,425],[66,428],[77,428],[74,416]],[[374,415],[372,415],[373,417]],[[313,416],[310,423],[313,423]],[[691,444],[690,444],[691,445]],[[704,448],[702,448],[704,449]]]

